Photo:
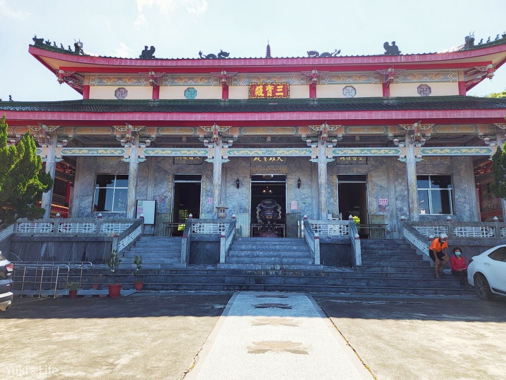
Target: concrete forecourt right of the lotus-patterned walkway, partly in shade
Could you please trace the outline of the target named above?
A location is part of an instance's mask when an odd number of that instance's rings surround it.
[[[378,380],[506,379],[504,297],[313,297]]]

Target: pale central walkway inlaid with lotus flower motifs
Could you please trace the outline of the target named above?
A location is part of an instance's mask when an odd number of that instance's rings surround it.
[[[372,378],[310,295],[237,292],[185,380]]]

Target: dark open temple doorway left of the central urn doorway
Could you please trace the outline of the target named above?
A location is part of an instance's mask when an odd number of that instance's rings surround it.
[[[194,219],[200,216],[200,192],[202,177],[200,174],[175,174],[172,197],[172,223],[170,234],[165,236],[183,236],[188,216]]]

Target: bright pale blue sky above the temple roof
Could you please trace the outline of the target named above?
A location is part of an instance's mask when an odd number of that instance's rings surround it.
[[[383,54],[385,41],[396,41],[402,53],[424,53],[460,45],[473,31],[477,42],[493,39],[506,29],[504,15],[504,0],[0,0],[0,98],[80,98],[28,54],[34,34],[58,46],[80,39],[91,54],[121,57],[138,57],[144,45],[155,46],[160,58],[220,49],[231,57],[263,57],[268,40],[275,57],[334,49]],[[501,67],[468,95],[505,89]]]

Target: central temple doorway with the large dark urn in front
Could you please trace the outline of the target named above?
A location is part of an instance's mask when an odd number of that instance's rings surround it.
[[[252,174],[250,201],[250,236],[252,238],[261,236],[285,237],[286,175]],[[266,220],[268,223],[266,223]]]

